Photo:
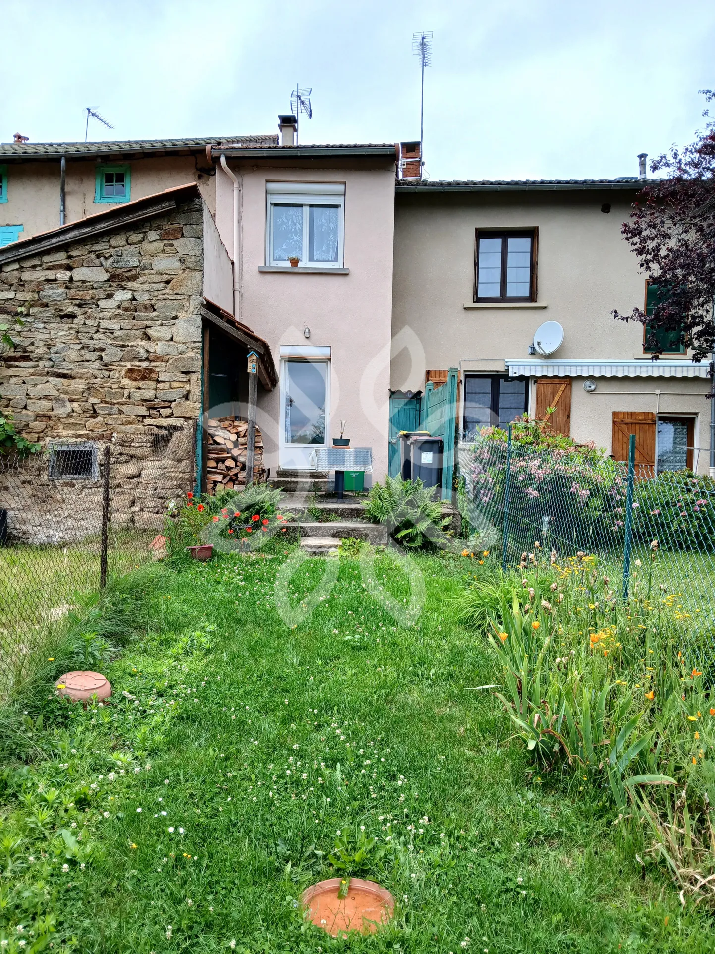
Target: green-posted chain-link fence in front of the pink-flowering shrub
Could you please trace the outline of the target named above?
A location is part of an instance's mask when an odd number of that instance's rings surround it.
[[[715,481],[491,429],[458,447],[476,543],[503,568],[541,548],[596,556],[611,598],[663,607],[715,664]],[[558,444],[558,442],[551,442]]]

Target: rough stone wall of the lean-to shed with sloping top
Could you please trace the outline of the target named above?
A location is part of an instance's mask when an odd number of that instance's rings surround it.
[[[112,522],[120,525],[152,528],[166,501],[191,489],[202,221],[201,200],[193,199],[172,213],[11,262],[0,272],[0,321],[11,325],[17,316],[24,322],[10,331],[17,346],[0,353],[0,415],[10,413],[24,436],[44,446],[92,441],[101,454],[111,443]],[[14,524],[16,539],[55,542],[89,530],[79,511],[86,497],[96,512],[97,483],[50,482],[37,465],[32,473],[22,492],[32,516],[11,508],[10,533]],[[9,476],[0,498],[3,491],[10,497]],[[13,490],[19,494],[17,484]],[[41,540],[38,528],[49,516],[42,501],[49,505],[65,492],[77,515],[63,516],[63,527]]]

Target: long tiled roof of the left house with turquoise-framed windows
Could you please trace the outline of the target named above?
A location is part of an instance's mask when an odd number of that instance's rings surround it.
[[[2,142],[4,159],[87,159],[98,156],[165,156],[203,152],[207,146],[232,149],[277,147],[278,137],[268,135],[212,135],[189,139],[125,139],[100,142]]]

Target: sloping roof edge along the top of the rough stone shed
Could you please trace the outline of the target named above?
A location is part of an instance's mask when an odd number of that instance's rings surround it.
[[[97,212],[93,216],[79,218],[76,222],[58,225],[56,229],[51,229],[49,232],[40,232],[31,239],[5,245],[0,248],[0,265],[18,259],[27,259],[31,255],[44,255],[53,249],[62,248],[63,245],[83,241],[88,236],[111,232],[145,218],[163,215],[165,212],[171,212],[182,202],[199,196],[196,183],[188,182],[186,185],[174,186],[173,189],[166,189],[153,196],[136,198],[133,202],[114,205],[105,212]]]

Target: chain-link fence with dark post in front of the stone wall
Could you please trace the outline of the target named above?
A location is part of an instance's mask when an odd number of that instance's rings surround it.
[[[0,698],[78,593],[163,555],[167,505],[193,484],[190,425],[0,455]]]

